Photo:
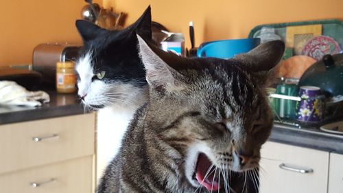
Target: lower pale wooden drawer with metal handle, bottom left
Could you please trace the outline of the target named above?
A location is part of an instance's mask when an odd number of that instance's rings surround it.
[[[91,193],[93,156],[0,174],[0,188],[6,193]]]

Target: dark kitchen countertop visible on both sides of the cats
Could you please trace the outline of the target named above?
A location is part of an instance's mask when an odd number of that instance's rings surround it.
[[[87,113],[78,102],[76,94],[58,94],[56,91],[47,93],[50,95],[50,102],[37,108],[0,106],[0,125]],[[269,140],[343,154],[343,135],[325,133],[316,128],[274,124]]]

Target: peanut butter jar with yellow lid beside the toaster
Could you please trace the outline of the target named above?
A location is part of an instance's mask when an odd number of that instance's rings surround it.
[[[74,63],[58,62],[56,64],[56,89],[58,93],[75,93],[76,74]]]

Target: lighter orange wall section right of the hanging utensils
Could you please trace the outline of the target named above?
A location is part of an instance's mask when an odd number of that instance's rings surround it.
[[[147,5],[152,19],[173,32],[182,32],[189,47],[189,21],[194,22],[196,45],[204,41],[245,38],[260,24],[343,19],[342,0],[104,0],[104,7],[128,12],[135,21]]]

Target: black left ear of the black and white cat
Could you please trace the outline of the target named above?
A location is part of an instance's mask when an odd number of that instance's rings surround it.
[[[106,31],[101,27],[95,25],[94,23],[91,23],[90,21],[86,20],[77,20],[75,22],[75,25],[76,28],[78,28],[78,32],[84,43],[93,40],[94,38],[99,36],[99,34]]]

